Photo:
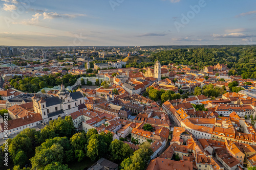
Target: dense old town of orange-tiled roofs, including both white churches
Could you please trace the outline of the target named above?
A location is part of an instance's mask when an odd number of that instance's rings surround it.
[[[97,80],[97,88],[84,86]],[[8,110],[9,137],[71,116],[77,131],[111,132],[134,151],[149,141],[148,170],[256,166],[256,82],[228,76],[224,64],[196,71],[157,61],[143,69],[99,70],[97,77],[77,79],[75,91],[62,84],[26,93],[4,81],[10,88],[0,91],[0,108]],[[0,122],[2,140],[3,117]]]

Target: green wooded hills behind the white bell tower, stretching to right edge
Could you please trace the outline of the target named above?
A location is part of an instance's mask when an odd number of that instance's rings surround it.
[[[188,51],[189,50],[189,51]],[[256,71],[256,46],[225,46],[218,48],[180,48],[176,50],[161,51],[148,57],[152,62],[130,63],[126,67],[143,68],[152,66],[159,59],[162,65],[169,63],[191,65],[201,70],[204,66],[227,64],[228,68],[235,69],[237,75]],[[252,76],[252,78],[254,78]],[[256,78],[256,77],[255,77]]]

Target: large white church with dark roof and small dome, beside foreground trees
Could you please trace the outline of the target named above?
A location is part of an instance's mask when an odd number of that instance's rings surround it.
[[[61,84],[61,89],[57,96],[42,96],[38,98],[36,95],[32,97],[35,113],[40,113],[44,122],[49,122],[52,119],[68,115],[76,112],[84,105],[84,96],[80,91],[70,93]]]

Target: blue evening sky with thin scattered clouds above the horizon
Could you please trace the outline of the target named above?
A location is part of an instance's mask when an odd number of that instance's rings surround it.
[[[0,45],[256,44],[255,0],[0,0]]]

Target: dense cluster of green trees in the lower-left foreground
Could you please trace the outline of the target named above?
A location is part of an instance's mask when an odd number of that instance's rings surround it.
[[[126,170],[131,167],[144,169],[150,161],[151,144],[144,142],[137,151],[129,144],[113,140],[111,132],[100,134],[92,128],[87,133],[75,130],[71,116],[51,120],[41,131],[27,128],[8,139],[9,169],[61,169],[90,167],[101,157],[121,164]],[[4,148],[0,150],[0,169],[4,166]]]

